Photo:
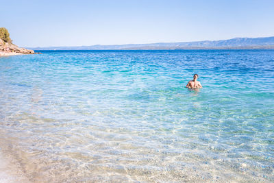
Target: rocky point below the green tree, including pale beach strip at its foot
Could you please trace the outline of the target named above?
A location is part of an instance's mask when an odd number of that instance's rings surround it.
[[[20,54],[35,54],[32,49],[19,48],[18,46],[4,42],[0,38],[0,56],[14,56]]]

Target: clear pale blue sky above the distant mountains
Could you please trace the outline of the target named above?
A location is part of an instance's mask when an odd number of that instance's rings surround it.
[[[0,0],[20,47],[274,36],[273,0]]]

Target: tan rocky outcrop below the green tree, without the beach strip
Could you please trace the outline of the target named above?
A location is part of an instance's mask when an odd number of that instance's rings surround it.
[[[23,53],[23,54],[34,54],[34,51],[31,49],[19,48],[18,46],[4,42],[0,38],[0,51],[1,52],[10,52],[10,53]]]

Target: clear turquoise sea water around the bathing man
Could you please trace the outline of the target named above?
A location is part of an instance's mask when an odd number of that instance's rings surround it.
[[[31,182],[273,182],[273,114],[273,50],[0,58],[0,147]]]

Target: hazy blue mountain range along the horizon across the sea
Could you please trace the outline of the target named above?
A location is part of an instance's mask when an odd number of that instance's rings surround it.
[[[92,45],[81,47],[33,47],[34,50],[123,50],[123,49],[274,49],[274,36],[266,38],[233,38],[193,42],[158,42],[151,44]]]

